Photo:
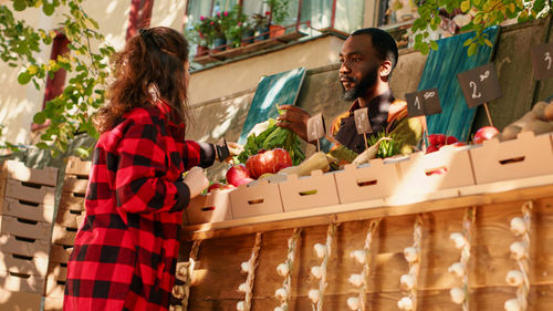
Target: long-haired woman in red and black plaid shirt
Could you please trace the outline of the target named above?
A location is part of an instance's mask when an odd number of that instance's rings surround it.
[[[182,209],[208,186],[200,167],[220,152],[184,138],[188,66],[185,38],[163,27],[140,30],[115,55],[64,310],[168,309]]]

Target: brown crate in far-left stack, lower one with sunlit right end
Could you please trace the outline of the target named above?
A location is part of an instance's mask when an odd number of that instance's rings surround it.
[[[0,270],[44,278],[48,271],[48,258],[0,252]]]

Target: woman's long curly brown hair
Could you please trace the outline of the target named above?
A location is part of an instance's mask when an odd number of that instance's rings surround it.
[[[188,42],[178,31],[166,27],[139,30],[111,59],[115,81],[107,89],[109,102],[94,116],[98,132],[112,129],[135,107],[156,105],[156,96],[169,105],[173,123],[191,121],[187,62]]]

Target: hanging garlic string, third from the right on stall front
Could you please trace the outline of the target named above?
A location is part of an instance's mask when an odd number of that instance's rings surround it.
[[[422,241],[422,218],[417,215],[413,230],[413,246],[404,249],[405,259],[409,262],[409,273],[401,276],[400,283],[408,291],[407,297],[403,297],[397,305],[401,310],[417,310],[417,279],[420,270],[420,245]]]

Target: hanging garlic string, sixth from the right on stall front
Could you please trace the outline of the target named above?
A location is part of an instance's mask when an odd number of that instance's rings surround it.
[[[276,307],[274,311],[288,311],[290,304],[290,296],[292,294],[292,269],[294,267],[294,258],[298,249],[298,240],[302,235],[301,228],[295,228],[292,237],[288,239],[288,256],[286,261],[276,267],[280,276],[284,277],[282,288],[275,292],[276,298],[280,300],[281,305]]]

